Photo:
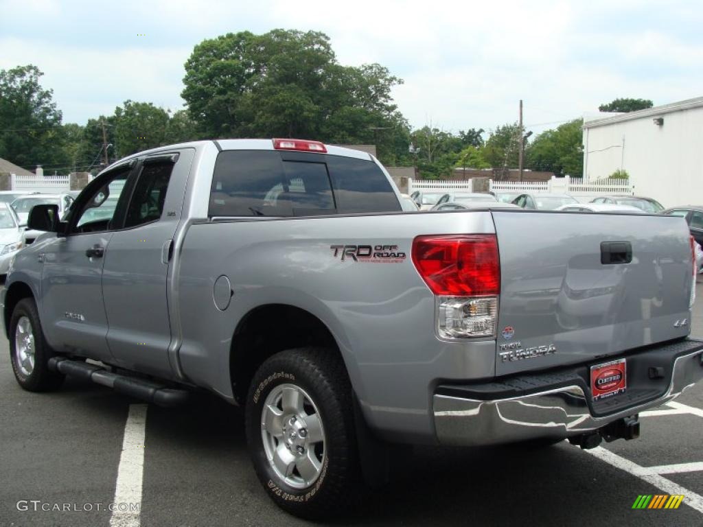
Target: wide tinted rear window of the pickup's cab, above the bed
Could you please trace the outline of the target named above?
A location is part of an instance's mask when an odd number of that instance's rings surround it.
[[[283,160],[280,152],[270,150],[220,152],[209,215],[314,216],[401,209],[373,162],[323,155],[300,161],[290,157],[286,154]]]

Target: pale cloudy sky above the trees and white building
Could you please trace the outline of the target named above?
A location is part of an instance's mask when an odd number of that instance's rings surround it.
[[[534,131],[617,97],[703,96],[701,0],[0,0],[0,69],[32,63],[64,122],[124,100],[181,108],[202,39],[276,27],[328,34],[344,65],[378,62],[415,127]],[[354,6],[354,9],[350,9]],[[138,36],[145,34],[146,36]]]

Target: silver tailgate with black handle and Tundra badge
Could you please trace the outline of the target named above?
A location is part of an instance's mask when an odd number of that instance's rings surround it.
[[[692,256],[683,219],[492,214],[501,259],[496,375],[605,358],[689,333]]]

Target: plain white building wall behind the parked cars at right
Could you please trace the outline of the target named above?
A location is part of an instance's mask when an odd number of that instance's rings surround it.
[[[664,207],[703,204],[703,106],[586,127],[583,145],[588,181],[624,169],[636,195]]]

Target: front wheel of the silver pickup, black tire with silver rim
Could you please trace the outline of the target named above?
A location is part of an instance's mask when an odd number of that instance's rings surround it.
[[[53,353],[44,340],[34,299],[22,299],[15,306],[9,337],[12,370],[18,384],[28,391],[58,389],[64,376],[49,370]]]

